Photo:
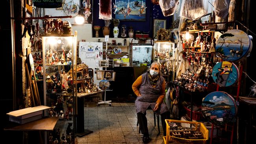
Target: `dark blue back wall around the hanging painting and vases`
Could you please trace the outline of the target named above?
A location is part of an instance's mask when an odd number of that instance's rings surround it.
[[[130,0],[131,1],[131,0]],[[134,0],[135,1],[135,0]],[[113,2],[115,3],[115,0],[112,0],[112,7],[113,7]],[[93,25],[92,26],[105,26],[104,24],[104,20],[99,19],[99,0],[93,0]],[[147,0],[146,3],[146,21],[120,21],[119,23],[119,36],[121,37],[121,26],[124,24],[127,27],[127,31],[129,30],[129,26],[132,26],[132,28],[135,31],[142,31],[142,32],[149,32],[149,36],[152,37],[152,31],[153,31],[153,4],[151,3],[151,0]],[[158,9],[158,17],[156,19],[166,19],[166,28],[170,28],[171,23],[172,23],[172,19],[173,16],[168,16],[168,17],[164,17],[163,13],[161,11],[161,8],[159,5],[155,6],[156,9]],[[113,14],[113,9],[112,9],[112,18],[115,18],[115,15]],[[109,37],[114,37],[113,36],[113,23],[110,24],[110,33],[109,33]],[[95,37],[95,30],[93,30],[93,37]],[[102,33],[102,28],[99,31],[99,37],[103,37],[103,33]]]

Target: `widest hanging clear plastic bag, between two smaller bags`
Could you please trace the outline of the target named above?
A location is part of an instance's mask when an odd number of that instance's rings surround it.
[[[183,0],[180,17],[197,20],[208,13],[208,0]]]

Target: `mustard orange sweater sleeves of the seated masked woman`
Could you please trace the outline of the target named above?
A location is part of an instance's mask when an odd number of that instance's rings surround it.
[[[134,81],[134,83],[132,84],[132,90],[134,90],[134,93],[136,94],[136,96],[141,96],[141,93],[139,92],[139,87],[141,86],[141,83],[142,83],[142,76],[139,76],[136,79],[136,81]],[[153,87],[156,87],[156,86],[154,85]],[[163,81],[161,93],[156,103],[163,102],[164,97],[165,97],[165,81]]]

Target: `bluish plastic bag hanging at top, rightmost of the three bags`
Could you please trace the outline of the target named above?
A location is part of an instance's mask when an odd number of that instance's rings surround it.
[[[230,0],[215,0],[213,3],[215,15],[225,18],[228,15]]]

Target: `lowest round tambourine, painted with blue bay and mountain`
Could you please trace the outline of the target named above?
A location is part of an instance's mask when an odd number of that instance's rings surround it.
[[[202,114],[215,125],[232,122],[237,114],[236,101],[226,92],[211,92],[203,99]]]

